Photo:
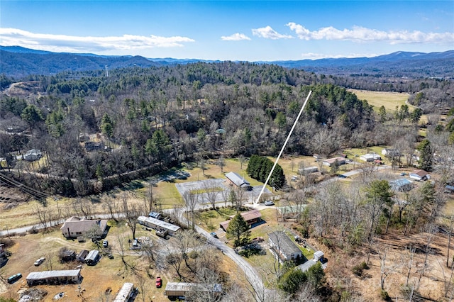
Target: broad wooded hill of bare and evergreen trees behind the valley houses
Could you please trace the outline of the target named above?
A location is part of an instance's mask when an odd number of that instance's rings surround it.
[[[13,166],[10,152],[45,151],[37,170],[57,178],[29,181],[62,194],[88,194],[185,161],[277,155],[309,90],[289,154],[327,156],[405,135],[416,141],[414,128],[387,125],[394,117],[377,117],[344,87],[407,91],[428,112],[454,106],[448,80],[372,82],[248,62],[134,66],[111,69],[109,77],[99,69],[28,80],[28,95],[13,94],[23,83],[1,95],[0,156]],[[399,123],[419,121],[402,112]]]

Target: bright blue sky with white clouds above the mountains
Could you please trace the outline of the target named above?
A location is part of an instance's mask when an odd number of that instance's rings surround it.
[[[11,1],[0,45],[204,60],[454,49],[454,1]]]

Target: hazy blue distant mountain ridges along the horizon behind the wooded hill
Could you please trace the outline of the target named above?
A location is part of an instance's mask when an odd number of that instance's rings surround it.
[[[26,77],[30,74],[57,74],[64,71],[90,71],[121,67],[159,67],[220,60],[145,58],[141,56],[105,56],[91,53],[49,52],[20,46],[0,46],[1,74]],[[454,50],[445,52],[393,52],[377,57],[326,58],[255,62],[275,64],[307,72],[333,75],[375,75],[385,77],[443,77],[454,79]]]

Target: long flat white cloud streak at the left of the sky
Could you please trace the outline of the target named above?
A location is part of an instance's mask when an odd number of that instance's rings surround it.
[[[31,33],[16,28],[0,28],[1,44],[18,45],[62,52],[90,52],[106,50],[143,50],[153,47],[183,47],[183,43],[194,42],[187,37],[160,37],[157,35],[121,35],[107,37],[81,37],[74,35],[52,35]]]

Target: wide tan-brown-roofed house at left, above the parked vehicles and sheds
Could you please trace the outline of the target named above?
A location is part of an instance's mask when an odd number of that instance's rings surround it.
[[[80,219],[79,217],[72,216],[68,218],[65,223],[63,223],[60,230],[62,235],[65,238],[75,238],[85,235],[89,230],[96,229],[96,234],[94,235],[103,235],[107,230],[107,220],[89,220],[89,219]]]

